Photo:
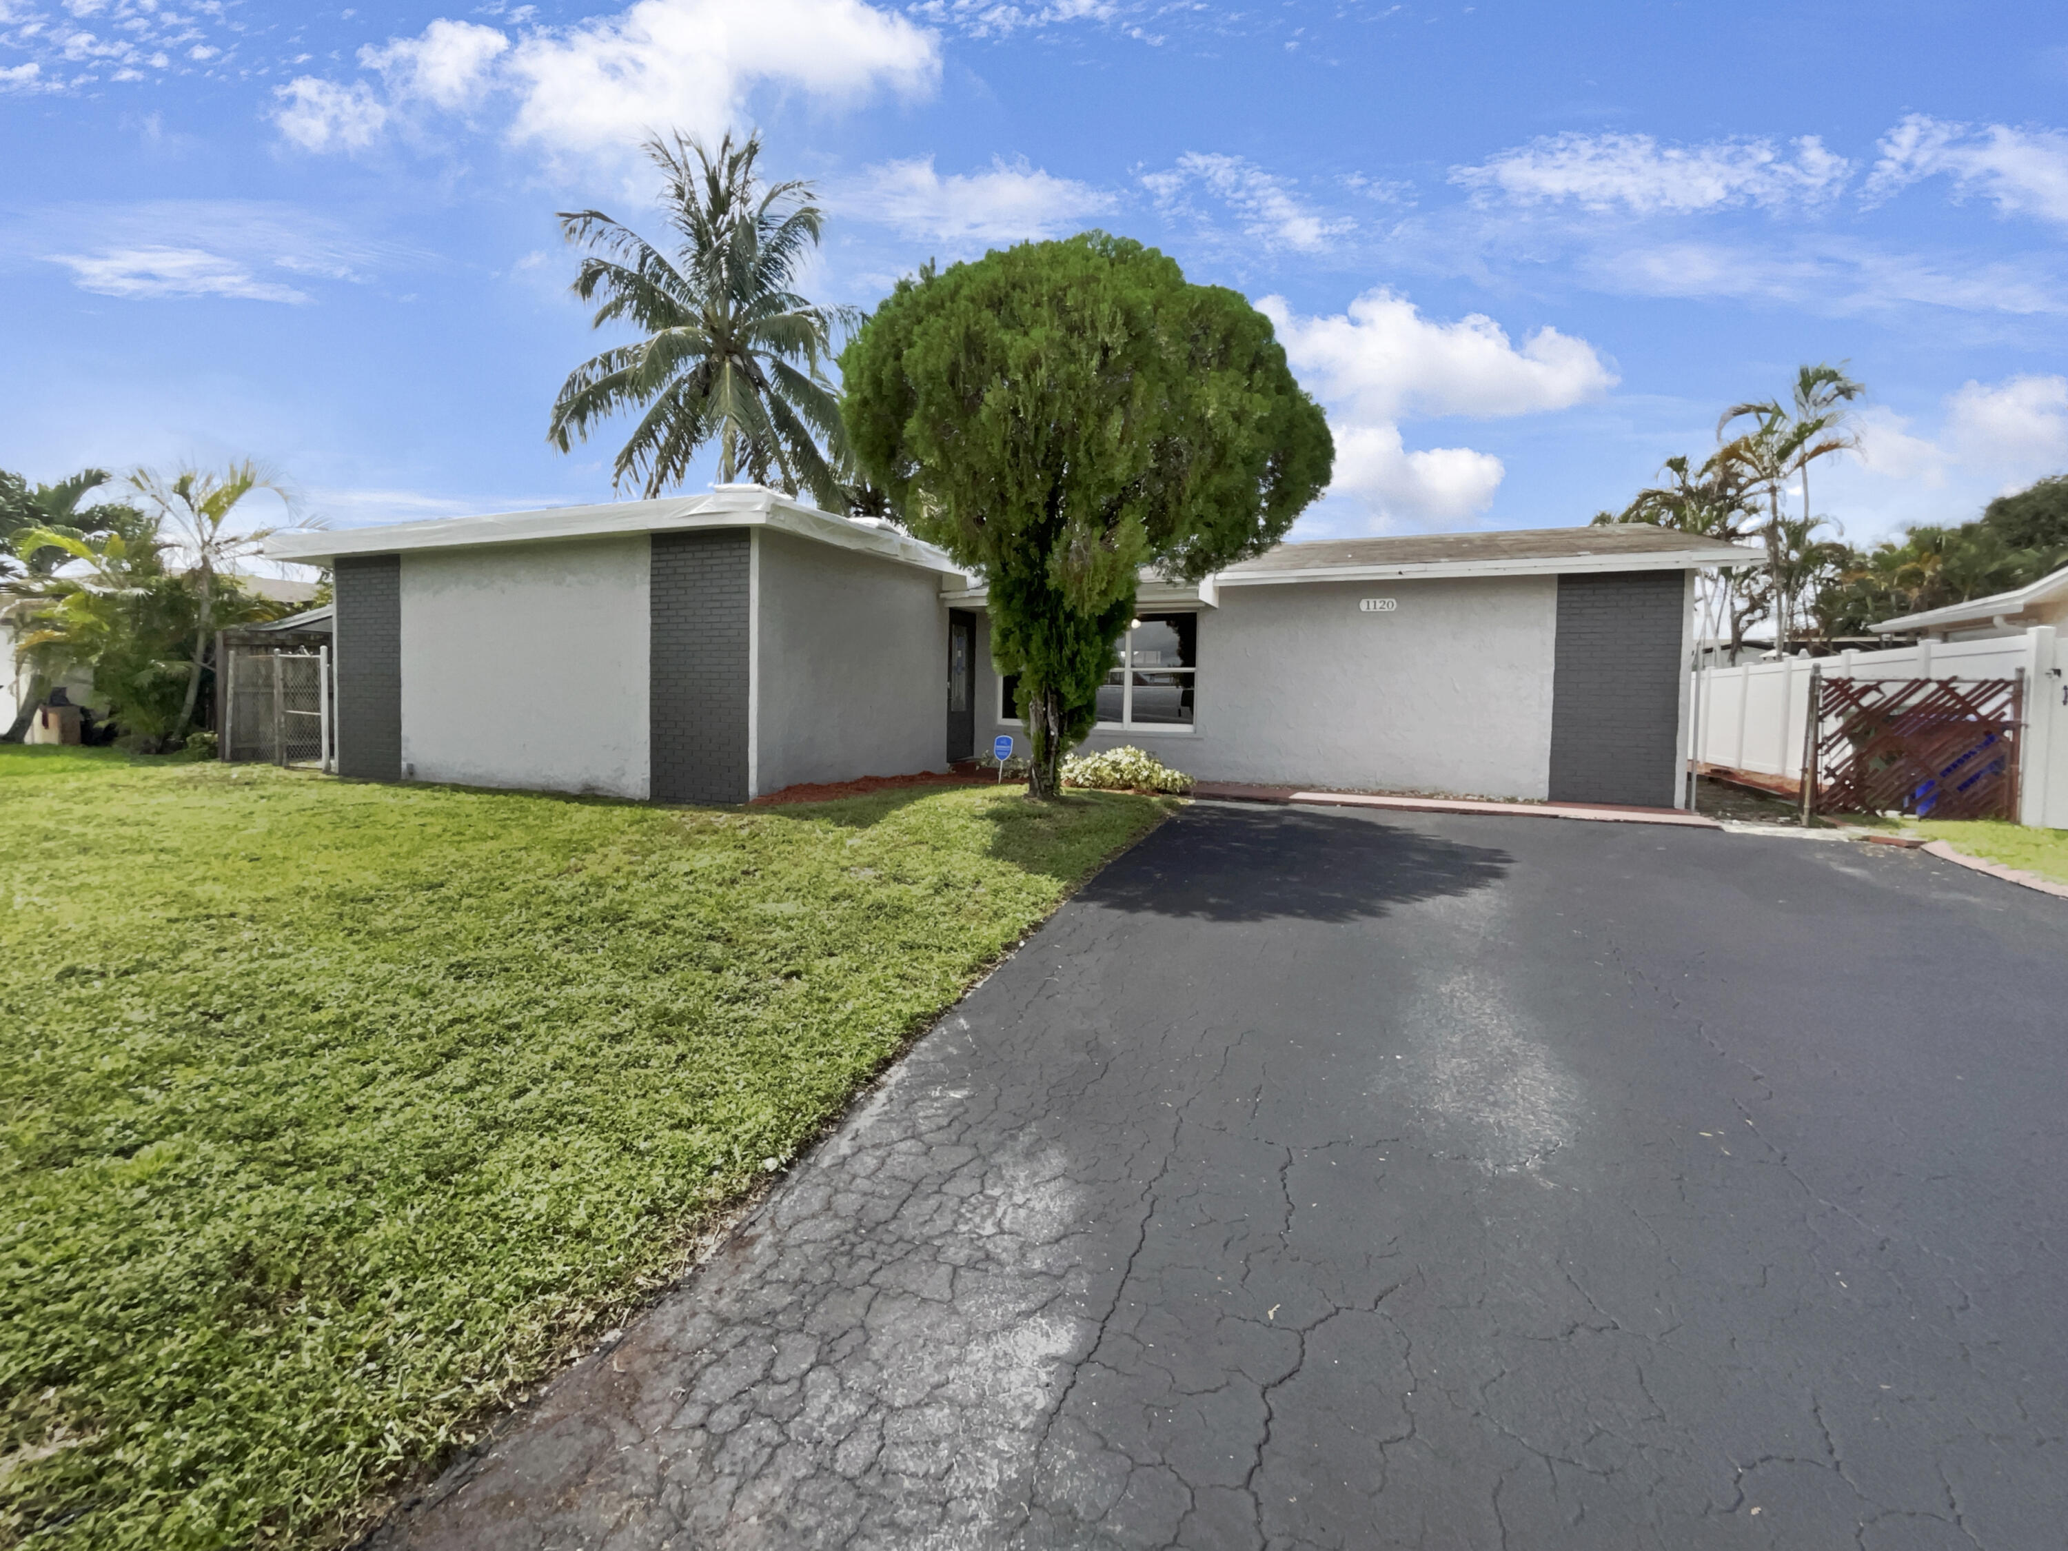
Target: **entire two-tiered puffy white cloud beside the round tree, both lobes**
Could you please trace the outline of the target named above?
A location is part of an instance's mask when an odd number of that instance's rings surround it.
[[[1286,360],[1328,405],[1336,436],[1330,494],[1361,500],[1379,521],[1456,523],[1487,509],[1501,459],[1470,447],[1408,451],[1406,416],[1522,416],[1568,409],[1607,393],[1615,372],[1584,339],[1539,329],[1518,349],[1489,316],[1435,323],[1386,287],[1336,316],[1299,316],[1280,296],[1257,308]]]

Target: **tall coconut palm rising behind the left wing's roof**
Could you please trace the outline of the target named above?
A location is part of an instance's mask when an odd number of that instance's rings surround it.
[[[713,155],[676,132],[645,153],[666,178],[678,246],[670,256],[602,211],[560,213],[560,234],[589,248],[573,290],[598,304],[594,327],[622,318],[643,337],[569,374],[546,440],[565,453],[610,416],[641,409],[614,486],[658,496],[716,438],[722,482],[744,474],[840,511],[848,459],[825,362],[852,314],[794,290],[825,219],[811,184],[763,184],[759,134],[744,145],[728,134]]]

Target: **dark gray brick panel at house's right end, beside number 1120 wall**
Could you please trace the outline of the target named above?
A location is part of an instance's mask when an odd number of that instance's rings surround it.
[[[1679,571],[1557,579],[1553,802],[1673,804],[1685,585]]]

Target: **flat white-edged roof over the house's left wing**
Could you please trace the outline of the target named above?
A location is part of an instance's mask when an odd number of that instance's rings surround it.
[[[484,517],[430,517],[385,527],[302,527],[273,534],[265,542],[269,560],[335,565],[349,554],[414,554],[420,550],[463,550],[492,544],[552,544],[618,534],[678,534],[705,527],[776,527],[883,560],[962,577],[945,550],[922,544],[895,527],[833,517],[817,507],[759,484],[722,484],[701,496],[662,500],[606,500],[596,507],[550,507],[507,511]]]

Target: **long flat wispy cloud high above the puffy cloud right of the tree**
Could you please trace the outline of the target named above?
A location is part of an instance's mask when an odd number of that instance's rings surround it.
[[[1768,209],[1836,194],[1851,163],[1805,134],[1789,157],[1772,141],[1659,145],[1650,134],[1549,134],[1450,180],[1520,205],[1574,201],[1634,215],[1687,215],[1733,205]]]

